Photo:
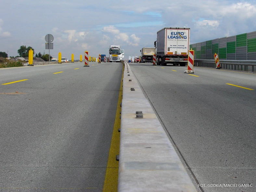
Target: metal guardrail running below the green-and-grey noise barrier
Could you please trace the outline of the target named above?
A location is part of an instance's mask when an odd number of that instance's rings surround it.
[[[222,69],[250,72],[256,71],[256,61],[253,60],[220,60],[220,65]],[[214,60],[196,59],[194,60],[194,66],[216,68]]]

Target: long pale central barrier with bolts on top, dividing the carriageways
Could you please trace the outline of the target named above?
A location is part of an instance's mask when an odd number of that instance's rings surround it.
[[[124,70],[118,191],[196,192],[137,79],[129,74]],[[143,118],[136,118],[136,111]]]

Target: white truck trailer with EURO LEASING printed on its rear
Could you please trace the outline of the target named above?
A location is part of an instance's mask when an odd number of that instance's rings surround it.
[[[156,64],[186,66],[190,28],[163,28],[157,32]]]

